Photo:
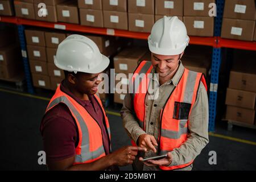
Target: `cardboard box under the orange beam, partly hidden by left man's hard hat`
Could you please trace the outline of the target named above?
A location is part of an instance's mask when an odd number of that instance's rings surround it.
[[[61,42],[66,38],[65,34],[56,32],[44,32],[46,37],[46,47],[57,48]]]

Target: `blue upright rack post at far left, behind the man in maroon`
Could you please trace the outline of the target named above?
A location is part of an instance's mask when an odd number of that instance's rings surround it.
[[[19,32],[19,42],[20,42],[20,48],[22,49],[22,59],[23,59],[23,65],[24,65],[24,72],[27,82],[27,91],[28,93],[34,94],[34,87],[32,84],[32,79],[30,75],[30,65],[28,64],[28,58],[27,58],[27,47],[26,47],[26,39],[24,35],[24,26],[18,24],[18,32]]]

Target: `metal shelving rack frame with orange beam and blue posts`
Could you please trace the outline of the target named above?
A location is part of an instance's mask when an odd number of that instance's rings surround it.
[[[221,48],[237,48],[256,51],[256,42],[245,42],[240,40],[229,40],[220,38],[222,15],[224,11],[224,0],[216,0],[217,16],[214,24],[213,37],[198,37],[191,36],[190,44],[211,46],[212,53],[212,68],[210,74],[210,89],[209,89],[209,131],[214,131],[216,119],[216,105],[217,105],[217,90],[218,90],[218,75],[221,65]],[[28,92],[34,94],[34,87],[32,86],[31,73],[27,59],[26,41],[24,36],[24,26],[35,26],[44,28],[54,28],[66,31],[84,32],[99,35],[121,36],[126,38],[144,39],[147,40],[148,33],[130,32],[125,30],[114,30],[109,28],[95,28],[80,26],[79,24],[69,23],[50,23],[36,20],[28,20],[17,17],[0,16],[0,22],[14,23],[18,25],[20,46],[22,48],[24,72],[27,81]]]

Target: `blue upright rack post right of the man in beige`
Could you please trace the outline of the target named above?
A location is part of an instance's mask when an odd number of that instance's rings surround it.
[[[222,17],[224,11],[224,0],[216,0],[217,16],[214,24],[214,36],[221,35]],[[215,129],[217,91],[218,91],[218,74],[221,65],[221,48],[213,48],[212,71],[210,76],[210,97],[209,97],[209,131]]]

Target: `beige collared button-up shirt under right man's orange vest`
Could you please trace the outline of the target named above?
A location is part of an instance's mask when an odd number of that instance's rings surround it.
[[[179,83],[183,72],[184,67],[180,62],[179,68],[177,69],[174,77],[163,85],[159,86],[158,97],[156,97],[155,100],[148,99],[150,95],[147,94],[145,101],[146,131],[143,131],[141,127],[139,127],[137,119],[133,115],[133,101],[131,100],[130,94],[126,94],[121,110],[121,117],[123,119],[123,126],[125,127],[127,134],[135,142],[137,142],[139,135],[149,134],[153,135],[156,141],[159,143],[158,135],[160,131],[160,111],[168,100],[168,96],[170,96],[172,90],[174,90],[175,86],[177,86]],[[151,73],[155,73],[154,68],[152,69]],[[156,79],[153,76],[150,80],[150,84],[154,85],[155,81]],[[200,83],[196,102],[192,107],[191,114],[189,115],[188,139],[179,148],[175,148],[173,151],[171,151],[172,163],[170,166],[189,163],[200,154],[201,150],[203,150],[203,148],[209,142],[208,118],[208,95],[203,83]],[[156,147],[156,150],[158,150],[158,147]],[[148,151],[146,154],[140,155],[142,157],[150,157],[155,156],[156,154],[154,154],[152,151]],[[138,170],[160,170],[159,167],[148,167],[143,165],[143,163],[138,161],[138,158],[135,160],[134,166]],[[191,169],[192,165],[180,170]]]

